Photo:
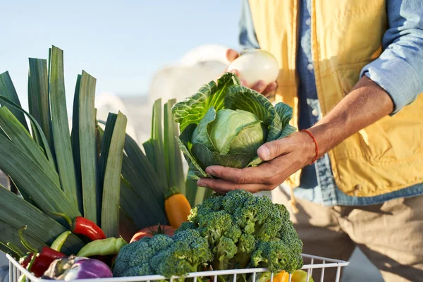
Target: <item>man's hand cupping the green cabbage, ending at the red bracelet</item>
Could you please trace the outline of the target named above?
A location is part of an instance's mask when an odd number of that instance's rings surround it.
[[[260,159],[266,161],[252,168],[228,168],[209,166],[206,172],[219,178],[202,178],[198,185],[216,192],[243,189],[250,192],[273,190],[291,174],[310,164],[315,157],[316,147],[307,133],[292,135],[259,147]]]

